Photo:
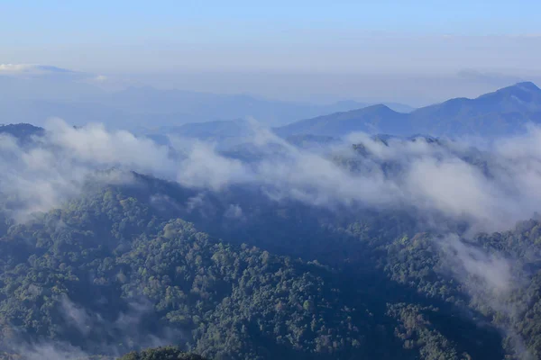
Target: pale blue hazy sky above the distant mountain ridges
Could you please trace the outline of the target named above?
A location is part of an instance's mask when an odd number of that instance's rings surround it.
[[[381,100],[414,105],[541,76],[538,1],[260,3],[2,0],[0,64],[269,97],[387,95]]]

